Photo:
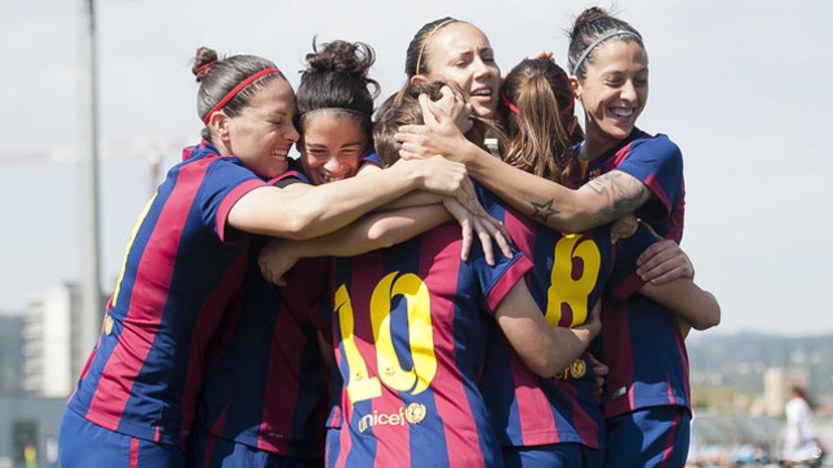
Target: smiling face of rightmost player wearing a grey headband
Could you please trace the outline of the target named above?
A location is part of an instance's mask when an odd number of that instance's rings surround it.
[[[587,142],[611,147],[631,134],[648,100],[648,56],[636,41],[612,40],[591,53],[583,80],[572,78],[585,109]]]

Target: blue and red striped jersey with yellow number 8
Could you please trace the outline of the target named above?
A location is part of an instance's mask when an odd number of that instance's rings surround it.
[[[567,235],[482,194],[481,201],[532,260],[526,282],[552,326],[580,326],[602,294],[621,301],[643,285],[636,276],[636,256],[617,257],[609,225]],[[645,227],[631,237],[633,246],[641,243],[640,252],[653,241]],[[496,326],[490,343],[481,390],[503,446],[606,445],[600,389],[586,354],[555,378],[545,379],[526,368]]]

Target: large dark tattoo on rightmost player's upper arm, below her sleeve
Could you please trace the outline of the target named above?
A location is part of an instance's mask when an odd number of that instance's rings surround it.
[[[636,211],[651,196],[645,184],[621,171],[602,174],[587,182],[587,185],[597,195],[605,198],[605,206],[596,213],[596,223],[599,226]]]

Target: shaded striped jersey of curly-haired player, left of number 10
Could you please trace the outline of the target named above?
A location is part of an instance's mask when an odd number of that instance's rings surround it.
[[[252,251],[266,241],[258,237]],[[251,256],[240,306],[228,315],[228,336],[212,346],[197,406],[197,422],[214,436],[283,456],[323,456],[327,371],[310,312],[328,265],[326,258],[301,261],[281,287],[263,278]]]

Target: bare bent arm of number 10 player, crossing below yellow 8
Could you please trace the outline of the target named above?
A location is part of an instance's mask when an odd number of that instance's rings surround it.
[[[600,307],[601,302],[597,302],[584,325],[551,326],[521,280],[497,306],[495,319],[526,367],[549,378],[581,356],[601,331]]]

